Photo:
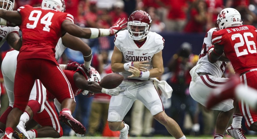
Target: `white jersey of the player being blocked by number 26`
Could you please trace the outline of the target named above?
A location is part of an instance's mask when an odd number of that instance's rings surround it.
[[[216,28],[212,28],[210,29],[205,37],[204,37],[204,43],[203,43],[203,47],[202,47],[202,51],[201,54],[199,55],[199,60],[196,64],[196,66],[198,66],[199,64],[202,63],[202,66],[200,66],[200,68],[198,68],[198,70],[196,70],[196,73],[210,73],[211,75],[215,76],[215,77],[221,77],[227,62],[222,62],[222,61],[217,61],[215,63],[210,63],[208,60],[208,48],[212,45],[212,33],[213,31],[216,31]]]

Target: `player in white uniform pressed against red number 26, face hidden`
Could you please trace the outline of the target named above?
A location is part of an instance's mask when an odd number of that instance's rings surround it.
[[[214,31],[216,31],[216,28],[212,28],[206,33],[202,51],[199,55],[200,59],[196,66],[190,71],[192,77],[189,86],[190,95],[195,101],[205,107],[211,93],[215,92],[217,87],[223,86],[229,79],[222,77],[227,62],[217,61],[212,64],[208,61],[208,50],[212,49],[212,33]],[[233,108],[232,99],[224,100],[212,107],[213,110],[220,110],[216,122],[215,139],[223,138],[224,131],[234,138],[239,138],[240,136],[244,138],[241,130],[242,115],[240,111],[234,112],[232,125],[227,129],[227,124],[232,116]]]

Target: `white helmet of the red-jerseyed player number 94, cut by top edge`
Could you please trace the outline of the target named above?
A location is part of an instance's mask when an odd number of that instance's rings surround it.
[[[42,9],[54,9],[61,12],[65,11],[64,0],[43,0],[41,4]]]

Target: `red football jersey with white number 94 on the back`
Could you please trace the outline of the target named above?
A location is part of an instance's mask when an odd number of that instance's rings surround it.
[[[22,17],[19,26],[22,31],[22,47],[18,60],[42,58],[55,62],[55,46],[62,36],[61,24],[64,20],[74,22],[69,13],[57,10],[43,10],[40,7],[24,5],[18,9]]]

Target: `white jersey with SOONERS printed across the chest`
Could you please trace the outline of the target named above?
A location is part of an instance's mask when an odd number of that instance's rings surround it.
[[[146,42],[138,48],[134,40],[128,36],[128,30],[123,30],[115,35],[114,44],[123,53],[122,63],[148,60],[149,63],[145,64],[149,64],[150,66],[145,68],[150,70],[153,68],[152,57],[163,49],[164,39],[155,32],[149,32]],[[128,78],[128,76],[132,75],[132,73],[128,71],[123,71],[121,74],[124,78]],[[140,77],[130,79],[140,79]]]

